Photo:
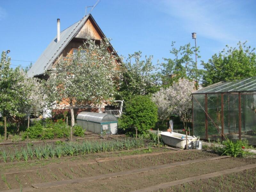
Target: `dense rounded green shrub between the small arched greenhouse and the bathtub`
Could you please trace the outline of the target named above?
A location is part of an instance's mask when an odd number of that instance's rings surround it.
[[[157,122],[157,107],[149,96],[139,95],[126,102],[125,113],[121,117],[121,128],[127,134],[146,134]]]

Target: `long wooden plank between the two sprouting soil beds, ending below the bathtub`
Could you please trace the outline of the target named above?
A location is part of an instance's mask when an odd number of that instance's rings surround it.
[[[228,157],[229,156],[210,157],[210,158],[206,158],[206,159],[188,160],[188,161],[176,162],[176,163],[172,163],[172,164],[164,164],[164,165],[157,165],[157,166],[152,166],[152,167],[145,167],[145,168],[141,168],[141,169],[133,169],[133,170],[124,171],[124,172],[108,173],[108,174],[97,175],[97,176],[92,176],[92,177],[77,178],[77,179],[73,179],[73,180],[61,180],[61,181],[50,181],[50,182],[45,182],[45,183],[35,183],[35,184],[32,184],[32,187],[37,188],[37,189],[38,188],[45,189],[45,188],[59,187],[59,186],[65,186],[68,184],[89,182],[89,181],[93,181],[93,180],[107,179],[107,178],[111,178],[111,177],[120,177],[120,176],[124,176],[124,175],[129,175],[129,174],[138,174],[138,173],[143,173],[143,172],[148,172],[148,171],[166,169],[166,168],[171,168],[171,167],[180,166],[180,165],[199,163],[199,162],[211,161],[211,160],[228,158]],[[149,190],[149,191],[151,191],[151,190]]]

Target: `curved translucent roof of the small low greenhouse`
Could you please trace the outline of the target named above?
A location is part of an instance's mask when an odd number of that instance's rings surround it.
[[[117,118],[113,115],[86,111],[79,113],[76,120],[92,121],[96,123],[117,122]]]

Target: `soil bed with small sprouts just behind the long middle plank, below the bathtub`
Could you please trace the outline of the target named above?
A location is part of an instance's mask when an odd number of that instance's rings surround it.
[[[5,175],[6,182],[0,180],[0,190],[7,189],[8,184],[12,189],[20,188],[20,185],[24,188],[30,187],[32,183],[91,177],[212,156],[216,155],[204,151],[180,151],[179,153],[118,159],[94,164],[69,165],[67,162],[63,166],[44,167],[34,172]]]

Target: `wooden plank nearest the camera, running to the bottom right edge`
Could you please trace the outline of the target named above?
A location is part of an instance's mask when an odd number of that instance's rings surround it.
[[[195,180],[209,179],[209,178],[212,178],[212,177],[218,177],[220,175],[225,175],[225,174],[230,174],[230,173],[235,173],[235,172],[241,172],[241,171],[244,171],[246,169],[252,169],[252,168],[255,168],[255,167],[256,167],[256,164],[249,164],[249,165],[245,165],[245,166],[242,166],[242,167],[235,167],[233,169],[226,169],[226,170],[223,170],[223,171],[208,173],[208,174],[199,175],[199,176],[196,176],[196,177],[189,177],[189,178],[186,178],[186,179],[175,180],[175,181],[171,181],[171,182],[168,182],[168,183],[161,183],[161,184],[154,185],[154,186],[151,186],[151,187],[141,188],[141,189],[138,189],[138,190],[135,190],[135,191],[137,191],[137,192],[158,191],[160,189],[170,188],[170,187],[175,186],[175,185],[180,185],[180,184],[195,181]]]

